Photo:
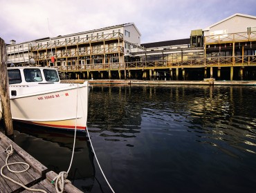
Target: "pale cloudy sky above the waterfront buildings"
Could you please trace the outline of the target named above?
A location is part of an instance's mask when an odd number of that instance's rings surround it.
[[[0,37],[23,43],[135,23],[140,43],[190,38],[190,31],[241,13],[255,0],[0,0]]]

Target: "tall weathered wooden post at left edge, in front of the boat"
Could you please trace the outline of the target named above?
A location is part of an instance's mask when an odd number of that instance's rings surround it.
[[[13,136],[12,113],[10,111],[9,81],[6,64],[6,43],[0,38],[0,98],[3,124],[7,136]]]

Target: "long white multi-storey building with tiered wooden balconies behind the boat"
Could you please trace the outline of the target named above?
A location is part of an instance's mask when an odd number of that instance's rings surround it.
[[[141,34],[134,23],[89,30],[75,34],[7,45],[8,63],[50,65],[91,65],[124,61]]]

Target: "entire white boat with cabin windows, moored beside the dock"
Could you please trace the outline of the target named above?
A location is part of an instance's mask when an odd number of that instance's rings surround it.
[[[64,130],[86,130],[89,83],[60,83],[54,68],[8,68],[12,119]]]

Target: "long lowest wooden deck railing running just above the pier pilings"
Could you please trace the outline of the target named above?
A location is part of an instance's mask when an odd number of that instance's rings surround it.
[[[133,61],[125,63],[95,63],[86,65],[61,65],[56,66],[62,72],[81,72],[93,70],[141,70],[165,68],[203,68],[203,67],[228,67],[256,65],[256,56],[246,57],[206,57],[189,59],[187,61]]]

